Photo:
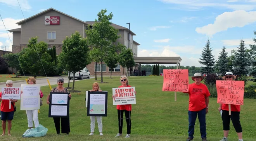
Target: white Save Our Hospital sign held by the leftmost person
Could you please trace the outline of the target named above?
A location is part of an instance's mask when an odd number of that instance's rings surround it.
[[[20,87],[3,87],[2,88],[2,99],[21,99],[21,88]]]

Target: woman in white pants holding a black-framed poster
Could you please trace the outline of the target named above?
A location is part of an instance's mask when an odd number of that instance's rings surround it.
[[[102,92],[102,90],[100,90],[99,83],[94,82],[92,84],[92,90],[90,90],[90,92],[92,92],[92,91]],[[93,133],[94,133],[95,116],[90,116],[90,119],[91,119],[91,133],[89,134],[89,136],[93,135]],[[100,136],[103,136],[103,134],[102,134],[102,116],[96,116],[96,119],[97,119],[97,122],[98,122],[98,128],[99,128]]]

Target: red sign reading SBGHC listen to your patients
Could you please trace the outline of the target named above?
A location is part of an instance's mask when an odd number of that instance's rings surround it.
[[[189,92],[189,70],[164,69],[163,91]]]

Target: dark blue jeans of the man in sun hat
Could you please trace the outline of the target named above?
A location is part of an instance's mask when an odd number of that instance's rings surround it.
[[[201,138],[206,138],[206,109],[202,109],[197,112],[189,111],[189,137],[194,138],[195,131],[195,120],[198,115],[198,120],[200,123],[200,133]]]

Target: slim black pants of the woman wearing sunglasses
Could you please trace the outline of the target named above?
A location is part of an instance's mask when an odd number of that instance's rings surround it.
[[[118,127],[119,134],[123,132],[123,116],[125,112],[125,120],[127,124],[127,134],[131,134],[131,111],[128,110],[118,110]]]

